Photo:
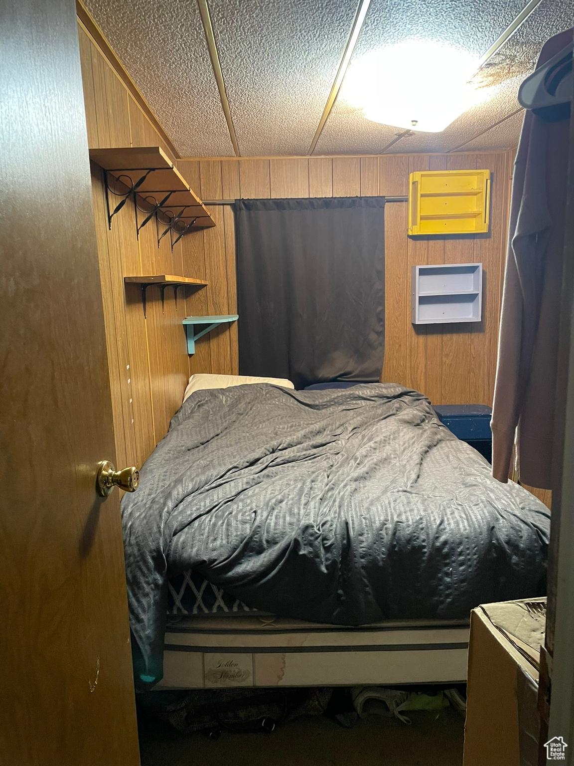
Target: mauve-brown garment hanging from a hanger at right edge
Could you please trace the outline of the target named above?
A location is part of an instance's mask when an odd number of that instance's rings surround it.
[[[543,46],[537,67],[572,41]],[[551,489],[569,119],[527,111],[510,203],[509,247],[492,413],[492,473],[507,482],[515,433],[520,482]]]

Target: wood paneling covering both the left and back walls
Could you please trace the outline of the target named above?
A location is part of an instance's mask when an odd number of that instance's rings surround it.
[[[492,172],[491,231],[475,237],[406,235],[406,203],[386,206],[386,341],[382,379],[426,393],[436,404],[491,404],[496,368],[501,278],[510,193],[510,152],[311,158],[178,159],[162,141],[103,51],[79,23],[80,57],[90,147],[161,146],[204,199],[405,195],[409,172],[488,168]],[[129,202],[107,225],[103,175],[93,165],[93,203],[103,287],[116,449],[121,465],[141,465],[168,429],[193,372],[238,372],[236,325],[197,342],[188,358],[181,319],[236,311],[233,211],[211,206],[215,228],[158,248],[151,221],[135,234]],[[410,267],[481,261],[480,324],[414,327]],[[207,280],[201,290],[150,287],[147,319],[139,287],[124,276],[174,273]]]

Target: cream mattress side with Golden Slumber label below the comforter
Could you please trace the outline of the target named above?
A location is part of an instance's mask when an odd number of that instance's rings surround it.
[[[156,689],[461,683],[465,620],[386,620],[361,627],[272,615],[169,617]]]

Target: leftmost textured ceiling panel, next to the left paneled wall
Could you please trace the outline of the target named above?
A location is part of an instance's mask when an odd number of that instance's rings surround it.
[[[194,0],[85,0],[181,156],[233,155]]]

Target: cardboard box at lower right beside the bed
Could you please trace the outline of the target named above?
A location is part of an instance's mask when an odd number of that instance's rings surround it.
[[[464,766],[536,766],[545,600],[471,612]]]

